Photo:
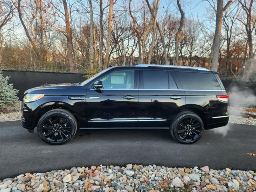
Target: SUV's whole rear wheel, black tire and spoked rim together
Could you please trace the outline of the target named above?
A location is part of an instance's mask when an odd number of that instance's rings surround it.
[[[189,111],[176,114],[170,124],[172,137],[182,144],[197,142],[203,132],[204,122],[197,114]]]

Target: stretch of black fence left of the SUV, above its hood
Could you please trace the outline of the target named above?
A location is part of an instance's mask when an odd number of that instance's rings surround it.
[[[8,83],[20,90],[18,97],[22,100],[26,90],[44,84],[76,83],[86,80],[86,74],[57,73],[57,72],[34,72],[3,70],[3,76],[10,76]]]

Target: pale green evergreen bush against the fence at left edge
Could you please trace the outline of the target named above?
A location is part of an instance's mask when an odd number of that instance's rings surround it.
[[[8,84],[10,77],[4,77],[0,71],[0,109],[4,110],[7,106],[19,100],[16,96],[19,90],[13,88],[13,84]]]

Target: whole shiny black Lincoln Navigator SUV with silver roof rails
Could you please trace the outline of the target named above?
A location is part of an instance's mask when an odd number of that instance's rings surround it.
[[[70,141],[78,129],[168,128],[178,142],[228,123],[228,95],[217,72],[147,65],[110,67],[82,83],[24,93],[22,126],[48,144]]]

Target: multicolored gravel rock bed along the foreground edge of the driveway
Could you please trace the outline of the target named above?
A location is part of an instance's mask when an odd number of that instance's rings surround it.
[[[1,180],[0,192],[256,191],[256,173],[253,171],[213,170],[206,166],[168,168],[132,165],[132,169],[127,168],[131,166],[101,165],[26,173]]]

